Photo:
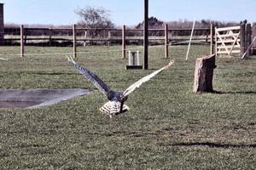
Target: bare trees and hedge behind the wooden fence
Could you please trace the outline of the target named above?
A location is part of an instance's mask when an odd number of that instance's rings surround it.
[[[96,7],[85,7],[78,8],[75,10],[75,14],[78,14],[80,20],[77,23],[79,28],[94,28],[93,30],[87,31],[87,37],[106,37],[108,33],[106,31],[102,31],[102,28],[121,28],[121,26],[115,26],[113,21],[110,20],[110,12],[106,8],[96,8]],[[247,22],[247,20],[243,20],[241,22]],[[237,26],[241,24],[241,22],[226,22],[226,21],[217,21],[217,20],[196,20],[195,27],[196,28],[209,28],[211,24],[217,27],[226,27],[226,26]],[[191,20],[177,20],[177,21],[169,21],[164,22],[155,17],[148,18],[148,28],[149,29],[163,29],[165,25],[168,25],[170,29],[188,29],[193,25],[193,21]],[[254,23],[253,26],[256,24]],[[53,25],[25,25],[25,27],[38,27],[38,28],[72,28],[72,26],[53,26]],[[130,29],[143,29],[143,21],[138,23],[137,26],[127,26]],[[5,25],[6,33],[20,34],[19,25],[16,24],[7,24]],[[16,29],[15,31],[11,31],[10,28]],[[97,29],[101,28],[101,29]],[[53,35],[72,35],[72,31],[67,30],[57,30],[51,32]],[[173,31],[171,32],[172,36],[188,36],[190,31]],[[26,34],[28,36],[37,36],[37,35],[48,35],[49,31],[47,30],[31,30],[27,31]],[[81,32],[80,34],[84,34]],[[120,36],[120,31],[112,31],[113,36]],[[127,36],[141,36],[142,32],[134,32],[128,31]],[[163,31],[152,31],[149,32],[149,36],[163,36]],[[206,35],[207,31],[195,31],[195,35]]]

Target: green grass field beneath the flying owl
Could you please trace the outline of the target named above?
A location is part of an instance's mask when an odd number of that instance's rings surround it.
[[[0,110],[0,169],[256,169],[256,58],[218,58],[213,88],[193,94],[195,58],[207,46],[149,48],[148,71],[125,71],[120,47],[79,48],[76,61],[115,90],[175,59],[110,119],[98,91],[43,109]],[[136,47],[132,47],[136,48]],[[67,65],[72,48],[0,47],[0,88],[89,88]],[[106,52],[109,50],[109,52]],[[49,53],[52,55],[43,55]],[[55,53],[55,54],[53,54]]]

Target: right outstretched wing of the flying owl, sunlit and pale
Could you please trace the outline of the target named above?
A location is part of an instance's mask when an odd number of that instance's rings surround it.
[[[123,98],[129,94],[131,94],[131,92],[133,92],[136,88],[139,88],[143,82],[148,82],[148,80],[150,80],[152,77],[154,77],[155,75],[157,75],[158,73],[160,73],[161,71],[166,70],[167,68],[169,68],[171,65],[173,65],[174,61],[171,61],[168,65],[160,68],[157,71],[152,72],[151,74],[149,74],[146,77],[141,78],[140,80],[138,80],[137,82],[131,84],[131,86],[129,88],[126,88],[124,93],[123,93]]]

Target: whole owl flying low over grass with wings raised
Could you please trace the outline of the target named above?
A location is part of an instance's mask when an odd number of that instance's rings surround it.
[[[128,99],[128,95],[131,94],[131,92],[133,92],[136,88],[139,88],[143,82],[148,82],[150,78],[169,68],[171,65],[173,65],[174,61],[171,61],[168,65],[152,72],[146,77],[139,79],[137,82],[134,82],[129,88],[126,88],[124,92],[113,91],[105,82],[102,81],[101,78],[97,77],[96,74],[87,70],[86,68],[78,65],[71,57],[68,57],[68,63],[90,82],[92,82],[96,88],[102,92],[102,94],[107,96],[108,102],[102,106],[100,111],[112,118],[112,116],[119,115],[120,113],[124,113],[125,111],[129,110],[129,107],[124,103]]]

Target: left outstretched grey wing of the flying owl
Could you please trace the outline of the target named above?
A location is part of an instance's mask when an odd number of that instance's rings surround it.
[[[111,90],[108,85],[102,81],[99,77],[97,77],[94,73],[91,71],[88,71],[87,69],[83,68],[82,66],[78,65],[72,58],[67,58],[70,65],[72,65],[74,68],[79,71],[80,74],[82,74],[85,78],[87,78],[90,82],[92,82],[96,88],[102,92],[102,94],[107,95],[108,92]]]

